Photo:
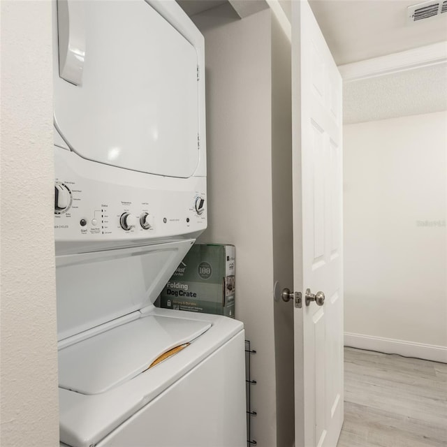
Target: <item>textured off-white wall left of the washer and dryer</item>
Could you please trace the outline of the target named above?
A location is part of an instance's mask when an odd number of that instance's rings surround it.
[[[2,446],[58,446],[50,1],[1,1]]]

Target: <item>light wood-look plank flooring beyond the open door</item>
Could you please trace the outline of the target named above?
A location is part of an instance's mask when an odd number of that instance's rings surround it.
[[[337,447],[446,447],[447,365],[345,348]]]

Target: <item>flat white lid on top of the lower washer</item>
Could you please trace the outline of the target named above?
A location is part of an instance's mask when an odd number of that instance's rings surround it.
[[[59,350],[59,388],[105,393],[144,374],[161,354],[192,342],[210,327],[207,321],[149,315],[106,330]]]

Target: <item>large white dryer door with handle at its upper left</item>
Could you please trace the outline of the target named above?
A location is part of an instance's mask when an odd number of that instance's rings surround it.
[[[85,159],[170,177],[198,165],[196,49],[144,0],[58,0],[54,121]]]

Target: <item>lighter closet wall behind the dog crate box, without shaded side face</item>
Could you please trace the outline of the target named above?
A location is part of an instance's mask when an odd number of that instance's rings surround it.
[[[229,4],[193,17],[205,36],[208,230],[236,247],[236,318],[253,379],[252,438],[276,446],[273,323],[270,11],[243,20]]]

